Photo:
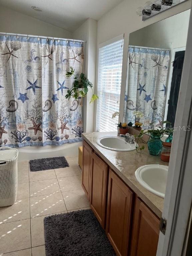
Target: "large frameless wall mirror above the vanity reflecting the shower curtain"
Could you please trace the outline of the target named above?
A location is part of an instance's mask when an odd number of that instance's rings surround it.
[[[174,126],[190,10],[130,34],[124,118],[137,129]],[[138,125],[142,123],[142,126]]]

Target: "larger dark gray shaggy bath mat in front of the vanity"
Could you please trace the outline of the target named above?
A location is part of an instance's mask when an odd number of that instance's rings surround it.
[[[91,210],[44,218],[46,256],[116,256]]]

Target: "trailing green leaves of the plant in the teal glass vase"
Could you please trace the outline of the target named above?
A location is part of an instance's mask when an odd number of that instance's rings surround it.
[[[162,122],[162,124],[170,124],[169,121],[164,121]],[[136,144],[136,151],[141,153],[142,150],[145,148],[144,145],[142,145],[141,147],[139,146],[139,142],[142,143],[146,143],[142,137],[144,134],[149,134],[149,139],[148,141],[151,139],[151,137],[160,137],[162,138],[164,134],[170,134],[173,133],[172,128],[169,127],[161,127],[161,126],[157,126],[157,129],[150,129],[150,130],[141,130],[140,133],[138,135],[135,135],[135,139],[137,140],[137,144]]]

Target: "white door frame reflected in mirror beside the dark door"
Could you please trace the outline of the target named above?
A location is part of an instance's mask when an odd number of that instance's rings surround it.
[[[169,74],[168,74],[167,95],[166,95],[166,102],[165,102],[164,120],[167,120],[167,114],[168,114],[168,108],[169,108],[168,100],[169,100],[169,95],[170,95],[170,91],[171,91],[171,82],[172,82],[172,78],[173,78],[173,65],[172,65],[172,63],[175,60],[175,53],[176,52],[182,52],[182,51],[186,51],[186,46],[173,48],[171,50],[171,58],[170,58],[170,63],[169,63],[170,69],[169,69]]]

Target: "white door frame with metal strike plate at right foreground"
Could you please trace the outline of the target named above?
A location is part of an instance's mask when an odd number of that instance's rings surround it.
[[[192,127],[192,12],[190,13],[183,73],[175,127]],[[162,217],[167,220],[165,235],[160,232],[157,256],[181,256],[192,201],[191,131],[174,131]]]

